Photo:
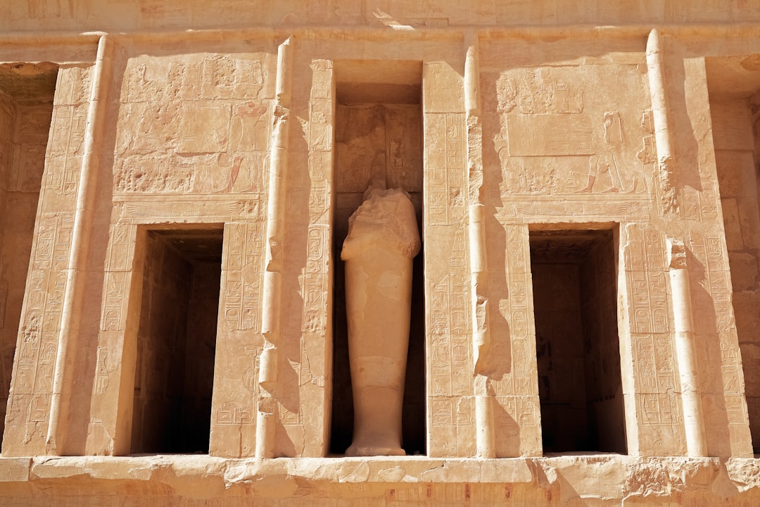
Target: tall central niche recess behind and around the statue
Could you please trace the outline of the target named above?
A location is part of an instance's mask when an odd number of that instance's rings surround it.
[[[348,232],[348,218],[362,203],[370,180],[377,176],[385,179],[387,188],[410,194],[423,236],[422,63],[340,60],[334,62],[334,71],[334,360],[329,452],[343,455],[353,436],[353,391],[340,250]],[[423,255],[420,251],[413,265],[402,415],[402,445],[407,455],[426,454]]]

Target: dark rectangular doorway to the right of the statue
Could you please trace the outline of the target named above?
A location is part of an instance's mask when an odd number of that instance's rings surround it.
[[[530,233],[544,452],[626,452],[612,230]]]

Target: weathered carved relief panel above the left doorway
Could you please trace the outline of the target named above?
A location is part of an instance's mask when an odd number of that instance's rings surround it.
[[[129,58],[114,193],[263,192],[274,74],[265,50]]]

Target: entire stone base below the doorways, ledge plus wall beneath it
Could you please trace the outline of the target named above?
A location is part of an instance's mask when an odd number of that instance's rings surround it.
[[[251,496],[262,505],[337,505],[329,499],[359,501],[351,505],[758,505],[760,459],[0,458],[3,505],[51,505],[51,499],[55,505],[94,499],[97,505],[236,505]]]

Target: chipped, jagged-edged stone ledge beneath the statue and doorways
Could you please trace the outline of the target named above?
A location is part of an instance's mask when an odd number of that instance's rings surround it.
[[[590,477],[596,477],[590,480]],[[614,486],[602,488],[610,479]],[[0,458],[2,484],[25,484],[48,493],[76,478],[95,490],[121,484],[198,498],[239,496],[255,490],[263,498],[321,491],[429,484],[515,484],[568,492],[581,498],[665,499],[695,490],[729,499],[760,495],[757,458],[637,458],[625,455],[558,455],[542,458],[215,458],[208,455],[138,455]],[[129,486],[132,485],[132,486]],[[147,486],[150,486],[148,488]],[[568,500],[565,498],[565,500]]]

